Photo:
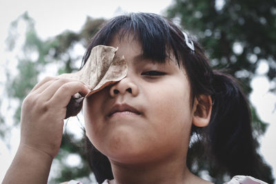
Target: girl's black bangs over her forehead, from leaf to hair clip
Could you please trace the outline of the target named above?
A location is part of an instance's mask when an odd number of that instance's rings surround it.
[[[150,13],[132,13],[108,21],[92,39],[83,57],[83,65],[96,45],[108,45],[117,35],[119,40],[133,37],[141,43],[143,57],[152,62],[165,63],[172,57],[177,60],[184,36],[175,25],[164,17]]]

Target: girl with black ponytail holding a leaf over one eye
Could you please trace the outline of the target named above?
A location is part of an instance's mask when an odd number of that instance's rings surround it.
[[[118,47],[128,65],[124,79],[83,101],[88,160],[99,183],[210,183],[188,169],[193,135],[230,176],[262,178],[246,98],[231,76],[210,68],[199,43],[157,14],[133,13],[97,32],[83,65],[96,45]],[[90,89],[57,77],[33,88],[3,183],[47,183],[66,105],[77,92]],[[247,176],[229,183],[248,182],[264,183]]]

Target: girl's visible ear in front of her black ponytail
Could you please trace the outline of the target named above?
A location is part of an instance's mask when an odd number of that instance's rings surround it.
[[[210,95],[201,94],[195,97],[193,105],[193,124],[197,127],[205,127],[210,121],[212,112],[212,99]]]

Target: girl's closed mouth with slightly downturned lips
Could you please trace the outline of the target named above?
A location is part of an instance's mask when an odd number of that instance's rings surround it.
[[[141,115],[141,112],[126,103],[117,103],[111,108],[110,112],[108,113],[108,117],[114,114]]]

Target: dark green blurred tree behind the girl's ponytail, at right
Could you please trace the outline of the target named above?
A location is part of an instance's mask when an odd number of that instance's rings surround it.
[[[206,49],[211,65],[226,68],[242,81],[246,94],[252,90],[250,81],[258,75],[260,63],[268,65],[265,75],[271,84],[276,83],[275,0],[175,0],[168,8],[166,17],[195,34]],[[276,85],[270,90],[276,92]],[[260,121],[255,108],[251,107],[251,110],[257,139],[266,131],[266,123]],[[199,147],[194,145],[195,150]],[[225,171],[199,158],[198,154],[190,158],[190,167],[196,165],[193,172],[200,174],[208,170],[215,183],[223,183]],[[270,167],[264,166],[261,179],[273,183]]]

